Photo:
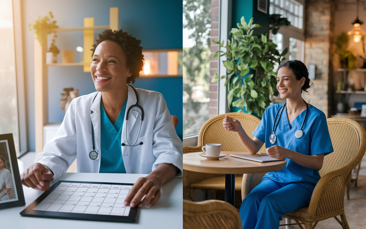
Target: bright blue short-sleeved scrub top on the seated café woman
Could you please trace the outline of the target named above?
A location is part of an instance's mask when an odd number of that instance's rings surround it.
[[[330,154],[333,152],[332,141],[330,140],[328,125],[325,114],[318,108],[310,105],[307,117],[302,128],[303,136],[295,137],[295,132],[301,128],[305,118],[306,110],[300,113],[294,121],[288,123],[286,106],[282,112],[279,124],[275,130],[276,142],[271,144],[269,135],[272,134],[273,122],[276,112],[284,103],[273,104],[264,111],[263,118],[253,136],[265,143],[269,148],[273,145],[291,149],[305,155]],[[281,108],[282,110],[282,108]],[[278,116],[281,113],[279,111]],[[306,188],[313,190],[320,179],[319,172],[313,169],[300,166],[292,160],[286,158],[287,165],[284,169],[267,173],[264,178],[270,178],[281,183],[297,182]]]

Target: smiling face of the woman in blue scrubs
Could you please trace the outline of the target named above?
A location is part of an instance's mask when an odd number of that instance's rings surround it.
[[[281,99],[301,96],[301,87],[305,83],[305,77],[296,80],[295,74],[287,67],[281,67],[277,72],[277,90]]]

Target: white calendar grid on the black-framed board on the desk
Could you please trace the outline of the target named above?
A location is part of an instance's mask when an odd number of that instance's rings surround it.
[[[123,202],[131,187],[61,182],[33,210],[128,216],[131,207],[124,206]]]

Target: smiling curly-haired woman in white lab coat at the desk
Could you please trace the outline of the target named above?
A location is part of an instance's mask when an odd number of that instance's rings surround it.
[[[182,176],[182,141],[161,93],[134,91],[129,84],[142,70],[141,40],[122,29],[107,29],[96,41],[90,70],[98,92],[71,101],[56,136],[22,174],[22,183],[48,190],[49,180],[59,178],[77,159],[81,173],[149,174],[137,180],[124,204],[152,206],[161,185]],[[143,112],[133,107],[137,102]],[[93,150],[94,156],[89,153]]]

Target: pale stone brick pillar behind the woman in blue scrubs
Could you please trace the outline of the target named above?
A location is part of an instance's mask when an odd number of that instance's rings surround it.
[[[330,43],[334,31],[332,0],[307,0],[305,4],[305,64],[315,64],[313,87],[303,97],[330,117],[333,107],[332,59]]]

